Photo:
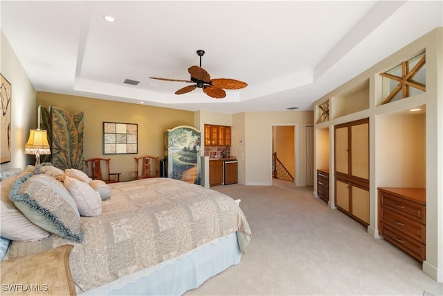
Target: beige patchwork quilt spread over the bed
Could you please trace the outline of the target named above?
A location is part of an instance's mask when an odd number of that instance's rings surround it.
[[[251,229],[228,195],[170,178],[109,184],[102,214],[81,217],[82,243],[51,234],[42,241],[13,241],[6,259],[74,246],[69,265],[82,291],[184,254],[237,232],[244,252]]]

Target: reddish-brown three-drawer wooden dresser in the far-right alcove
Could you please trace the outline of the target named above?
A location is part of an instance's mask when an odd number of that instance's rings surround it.
[[[379,187],[379,234],[419,261],[426,259],[426,189]]]

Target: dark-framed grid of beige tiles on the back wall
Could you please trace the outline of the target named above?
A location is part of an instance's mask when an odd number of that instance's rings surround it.
[[[137,154],[136,123],[103,122],[103,154]]]

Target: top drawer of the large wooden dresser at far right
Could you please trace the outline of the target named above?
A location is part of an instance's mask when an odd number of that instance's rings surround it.
[[[405,200],[395,195],[379,192],[380,206],[392,209],[398,214],[404,215],[419,223],[426,224],[426,206],[417,202]]]

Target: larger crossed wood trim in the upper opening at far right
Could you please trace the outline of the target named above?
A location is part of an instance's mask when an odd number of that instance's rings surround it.
[[[426,55],[423,55],[422,58],[415,64],[412,70],[409,71],[409,61],[401,62],[401,77],[392,75],[390,73],[380,73],[381,76],[397,80],[399,84],[395,89],[392,90],[392,92],[389,94],[389,96],[386,97],[385,101],[383,101],[383,104],[389,103],[392,98],[394,98],[401,90],[403,94],[403,98],[407,98],[409,96],[409,87],[415,87],[416,89],[420,89],[423,92],[426,92],[426,85],[424,85],[421,82],[417,82],[413,80],[415,74],[417,74],[420,69],[426,64]]]

